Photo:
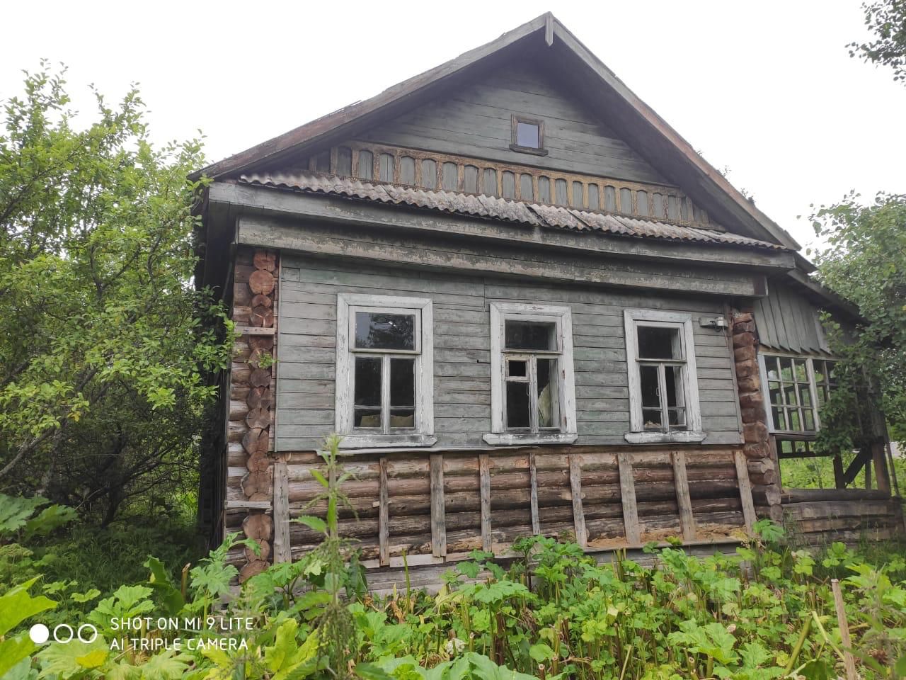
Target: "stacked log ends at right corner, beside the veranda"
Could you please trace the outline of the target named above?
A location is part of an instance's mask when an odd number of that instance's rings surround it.
[[[759,516],[783,520],[780,488],[768,440],[765,397],[758,373],[758,336],[751,309],[733,314],[733,359],[742,417],[743,451],[753,481],[752,495]],[[758,483],[761,482],[761,483]]]

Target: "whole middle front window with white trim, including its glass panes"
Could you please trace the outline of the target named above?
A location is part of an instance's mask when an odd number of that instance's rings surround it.
[[[576,440],[569,307],[492,302],[491,444]]]

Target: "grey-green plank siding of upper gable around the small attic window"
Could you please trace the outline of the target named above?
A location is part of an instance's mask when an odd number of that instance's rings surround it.
[[[546,156],[510,151],[513,113],[545,121]],[[558,92],[533,64],[496,69],[452,96],[360,136],[364,141],[622,180],[667,183],[601,117]]]

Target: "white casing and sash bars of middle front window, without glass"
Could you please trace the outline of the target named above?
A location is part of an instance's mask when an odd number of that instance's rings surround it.
[[[491,315],[491,432],[483,439],[489,444],[573,443],[578,438],[573,374],[573,317],[569,307],[492,302]],[[553,325],[554,347],[543,350],[506,347],[506,322]],[[549,391],[553,422],[538,422],[538,362],[554,361],[556,389]],[[509,371],[513,363],[524,362],[525,375]],[[525,384],[528,390],[527,427],[508,427],[506,390],[508,384]],[[549,383],[548,386],[550,386]],[[555,396],[554,396],[555,395]]]

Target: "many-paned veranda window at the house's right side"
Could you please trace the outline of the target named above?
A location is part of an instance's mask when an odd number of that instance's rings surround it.
[[[814,435],[821,428],[818,410],[836,386],[829,359],[758,355],[771,432]]]

